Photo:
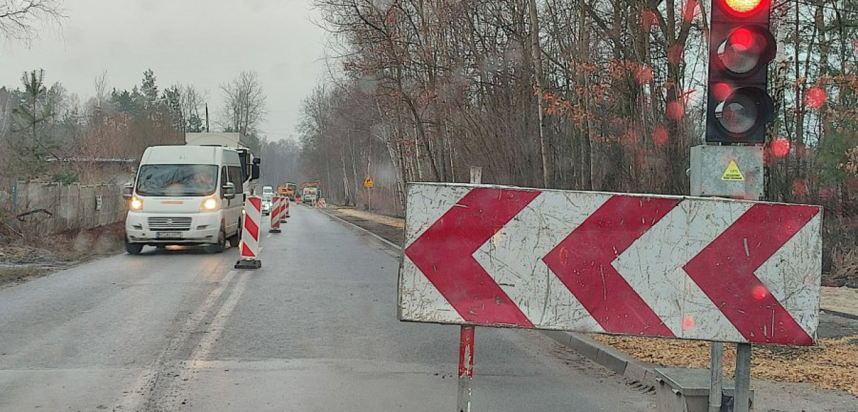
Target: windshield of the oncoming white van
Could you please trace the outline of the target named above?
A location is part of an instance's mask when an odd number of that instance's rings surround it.
[[[209,196],[215,193],[215,165],[145,165],[137,175],[142,196]]]

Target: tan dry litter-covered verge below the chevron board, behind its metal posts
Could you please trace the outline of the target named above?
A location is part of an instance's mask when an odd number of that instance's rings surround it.
[[[590,336],[641,361],[663,367],[706,368],[710,343],[630,336]],[[724,347],[724,373],[733,375],[735,345]],[[858,396],[858,336],[820,339],[816,347],[753,347],[754,377],[808,382]]]

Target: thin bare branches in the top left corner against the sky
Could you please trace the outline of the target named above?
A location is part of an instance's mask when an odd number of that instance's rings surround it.
[[[0,0],[0,35],[30,41],[41,23],[59,24],[65,15],[62,0]]]

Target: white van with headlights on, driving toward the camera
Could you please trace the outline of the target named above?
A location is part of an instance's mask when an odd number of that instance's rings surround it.
[[[224,251],[239,245],[248,178],[239,153],[215,146],[153,146],[130,188],[125,250],[144,245],[205,245]]]

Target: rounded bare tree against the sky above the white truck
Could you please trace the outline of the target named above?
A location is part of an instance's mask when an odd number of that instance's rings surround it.
[[[242,71],[231,82],[221,84],[221,91],[224,94],[224,129],[257,135],[268,113],[267,97],[257,72]]]

